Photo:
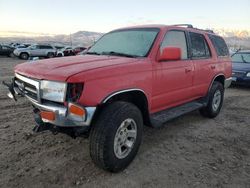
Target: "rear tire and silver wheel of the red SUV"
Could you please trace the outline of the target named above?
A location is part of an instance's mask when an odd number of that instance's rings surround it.
[[[215,118],[221,110],[224,100],[224,87],[220,82],[214,81],[209,93],[207,106],[200,109],[201,115]]]

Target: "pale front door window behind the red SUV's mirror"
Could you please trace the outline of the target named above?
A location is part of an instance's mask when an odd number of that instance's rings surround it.
[[[166,47],[178,47],[181,49],[181,59],[187,59],[187,42],[184,31],[168,31],[162,44],[161,52]]]

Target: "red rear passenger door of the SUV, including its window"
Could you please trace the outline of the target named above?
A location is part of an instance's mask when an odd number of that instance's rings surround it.
[[[206,37],[201,33],[189,32],[190,55],[194,64],[192,97],[202,97],[213,79],[214,62]]]

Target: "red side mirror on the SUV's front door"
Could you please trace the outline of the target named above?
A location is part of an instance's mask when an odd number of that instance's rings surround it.
[[[158,61],[176,61],[181,59],[181,49],[177,47],[166,47],[159,55]]]

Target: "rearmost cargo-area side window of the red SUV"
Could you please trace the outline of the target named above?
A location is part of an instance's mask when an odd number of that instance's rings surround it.
[[[209,39],[212,41],[218,56],[229,56],[229,51],[223,38],[215,35],[209,35]]]

